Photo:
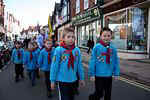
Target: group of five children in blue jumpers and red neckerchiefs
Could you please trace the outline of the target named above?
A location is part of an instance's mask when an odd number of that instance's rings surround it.
[[[111,37],[112,31],[103,28],[100,42],[92,50],[88,74],[90,80],[95,82],[95,92],[89,95],[89,100],[100,100],[103,96],[104,100],[111,100],[112,76],[117,79],[120,73],[117,50],[111,43]],[[15,64],[15,81],[19,81],[20,75],[24,78],[24,64],[34,86],[40,68],[45,74],[48,97],[52,96],[52,90],[58,86],[59,100],[74,100],[78,84],[85,85],[81,52],[75,46],[72,28],[65,28],[62,38],[63,42],[56,48],[52,47],[51,39],[46,39],[42,50],[38,49],[35,42],[30,42],[27,50],[16,43],[11,59]]]

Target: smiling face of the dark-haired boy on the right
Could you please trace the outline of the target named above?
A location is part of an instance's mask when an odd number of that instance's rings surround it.
[[[111,40],[111,32],[110,31],[104,31],[101,35],[101,40],[103,40],[105,43],[110,42]]]

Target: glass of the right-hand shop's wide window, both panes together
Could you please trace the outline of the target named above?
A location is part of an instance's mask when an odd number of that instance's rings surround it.
[[[113,31],[112,42],[118,49],[146,51],[148,35],[148,9],[130,8],[105,16]]]

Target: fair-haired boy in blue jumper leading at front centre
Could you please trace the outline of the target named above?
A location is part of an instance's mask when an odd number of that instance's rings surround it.
[[[82,66],[81,53],[75,47],[75,34],[72,28],[65,28],[63,41],[55,49],[51,72],[51,88],[55,88],[58,82],[59,100],[74,100],[76,93],[77,75],[80,78],[80,85],[84,86],[84,69]]]

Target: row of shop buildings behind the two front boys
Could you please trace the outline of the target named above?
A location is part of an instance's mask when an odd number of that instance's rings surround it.
[[[149,0],[61,0],[56,26],[59,39],[63,28],[73,26],[82,48],[89,39],[96,44],[101,28],[109,27],[120,57],[150,58]]]

